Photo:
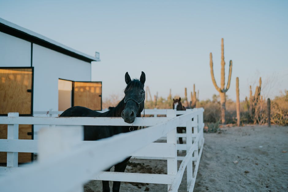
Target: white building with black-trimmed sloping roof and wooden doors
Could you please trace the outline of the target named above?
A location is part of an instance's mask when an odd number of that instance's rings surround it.
[[[101,110],[102,82],[91,82],[92,61],[100,61],[99,53],[86,55],[0,18],[0,115],[76,105]],[[0,124],[0,139],[7,137],[6,129]],[[20,126],[19,139],[33,139],[27,135],[33,129]],[[0,163],[3,158],[0,152]]]

